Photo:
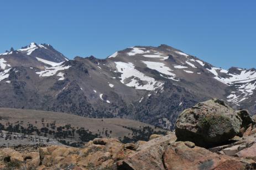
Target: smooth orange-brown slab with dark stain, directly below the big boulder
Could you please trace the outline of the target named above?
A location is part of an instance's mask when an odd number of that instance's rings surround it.
[[[245,164],[229,157],[212,153],[205,148],[189,147],[185,142],[175,142],[163,156],[165,169],[245,169]]]

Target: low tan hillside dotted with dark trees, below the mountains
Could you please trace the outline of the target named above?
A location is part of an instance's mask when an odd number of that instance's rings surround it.
[[[80,145],[95,137],[116,137],[123,140],[126,136],[126,140],[130,141],[137,141],[140,138],[148,140],[148,137],[155,132],[165,133],[163,129],[135,120],[91,119],[51,111],[0,108],[0,118],[1,130],[49,137],[50,141],[55,139],[65,145],[67,145],[65,142]],[[17,140],[19,139],[3,140],[1,146],[17,144],[15,142]]]

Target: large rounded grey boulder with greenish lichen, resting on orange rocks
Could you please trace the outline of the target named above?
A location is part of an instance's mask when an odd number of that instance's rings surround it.
[[[242,119],[222,100],[211,99],[182,111],[176,121],[177,140],[210,147],[239,134]]]

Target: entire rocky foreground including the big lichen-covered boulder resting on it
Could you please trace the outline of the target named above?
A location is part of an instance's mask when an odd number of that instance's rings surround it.
[[[255,119],[213,99],[184,110],[176,132],[149,141],[9,147],[0,160],[1,169],[256,169]]]

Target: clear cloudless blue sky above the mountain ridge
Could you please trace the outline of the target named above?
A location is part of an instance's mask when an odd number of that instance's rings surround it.
[[[0,1],[0,53],[30,42],[105,58],[167,44],[217,67],[256,67],[256,1]]]

